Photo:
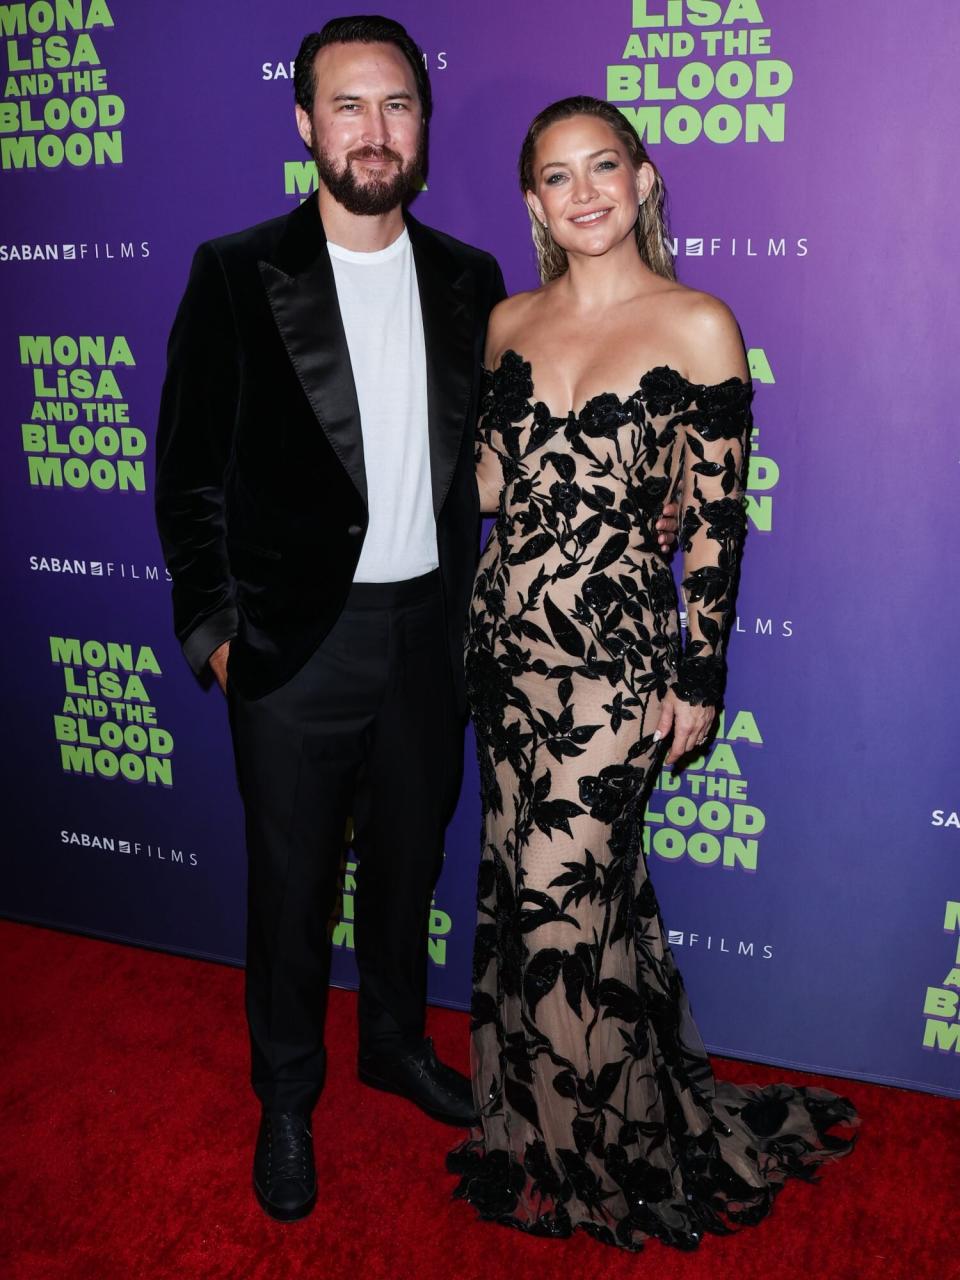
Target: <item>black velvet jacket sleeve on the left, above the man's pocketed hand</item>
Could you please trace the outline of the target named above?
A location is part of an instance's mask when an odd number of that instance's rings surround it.
[[[201,244],[170,332],[156,439],[156,520],[173,579],[174,628],[197,673],[237,632],[224,477],[239,397],[227,278],[215,248]]]

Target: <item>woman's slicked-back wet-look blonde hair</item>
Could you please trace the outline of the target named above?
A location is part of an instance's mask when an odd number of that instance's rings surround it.
[[[558,102],[552,102],[549,106],[545,106],[543,111],[534,118],[530,128],[526,131],[524,146],[520,148],[521,192],[526,197],[529,191],[536,189],[534,178],[534,152],[540,136],[552,124],[557,124],[559,120],[570,120],[575,115],[595,115],[598,119],[604,120],[617,134],[617,138],[623,143],[634,168],[639,169],[641,164],[649,164],[653,169],[653,187],[650,188],[646,200],[644,200],[640,205],[640,212],[637,214],[636,225],[634,228],[636,234],[636,247],[640,251],[640,257],[652,271],[655,271],[658,275],[663,275],[668,280],[676,279],[673,255],[671,253],[667,243],[667,188],[663,186],[663,178],[660,178],[657,165],[646,154],[646,148],[637,137],[636,129],[634,129],[626,116],[618,111],[616,106],[611,106],[611,104],[604,102],[603,99],[589,97],[586,95],[563,97]],[[548,228],[543,225],[536,214],[534,214],[532,209],[530,209],[530,206],[527,206],[527,209],[530,212],[530,227],[534,237],[534,248],[536,250],[536,265],[540,270],[540,280],[547,284],[549,280],[556,280],[557,276],[563,275],[567,270],[567,252],[554,241]]]

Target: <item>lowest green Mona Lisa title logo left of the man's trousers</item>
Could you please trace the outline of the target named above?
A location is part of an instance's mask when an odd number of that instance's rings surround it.
[[[54,716],[64,773],[173,786],[173,733],[156,722],[148,682],[163,675],[150,645],[50,636],[63,668]]]

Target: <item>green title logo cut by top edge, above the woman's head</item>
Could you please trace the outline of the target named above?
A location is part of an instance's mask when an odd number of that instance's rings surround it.
[[[756,0],[632,0],[631,27],[604,97],[645,142],[783,141],[794,70]]]

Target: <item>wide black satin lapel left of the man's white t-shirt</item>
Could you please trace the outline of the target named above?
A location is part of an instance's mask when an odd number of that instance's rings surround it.
[[[259,266],[300,384],[332,449],[366,502],[357,389],[323,223],[314,201],[306,201],[291,215],[276,264]]]

